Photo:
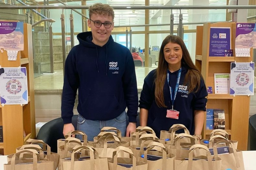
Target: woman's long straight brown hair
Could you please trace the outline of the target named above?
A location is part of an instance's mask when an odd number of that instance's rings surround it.
[[[181,66],[188,69],[188,73],[184,79],[184,85],[188,85],[188,93],[197,92],[200,89],[200,79],[202,78],[202,74],[192,62],[184,41],[179,36],[168,35],[162,42],[159,51],[159,63],[156,69],[155,100],[158,107],[167,107],[164,104],[164,83],[167,75],[168,63],[164,59],[164,47],[170,42],[179,44],[182,49]]]

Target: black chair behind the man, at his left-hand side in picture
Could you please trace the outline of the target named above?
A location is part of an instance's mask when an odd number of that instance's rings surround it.
[[[77,126],[77,117],[74,115],[72,117],[72,124]],[[51,147],[52,152],[57,153],[57,140],[64,139],[63,136],[63,120],[62,118],[53,119],[50,122],[45,123],[40,129],[36,136],[36,139],[43,140],[46,144]]]

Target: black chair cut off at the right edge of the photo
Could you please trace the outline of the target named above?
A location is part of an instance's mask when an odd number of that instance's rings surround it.
[[[256,114],[249,118],[250,150],[256,151]]]

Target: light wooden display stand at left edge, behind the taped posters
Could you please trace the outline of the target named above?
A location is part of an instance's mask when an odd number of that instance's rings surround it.
[[[4,140],[0,143],[0,154],[4,155],[15,153],[16,148],[28,138],[36,137],[32,27],[27,23],[23,26],[24,50],[18,52],[17,61],[8,61],[7,51],[0,52],[1,67],[26,67],[28,79],[28,104],[0,105],[0,126],[3,126]]]

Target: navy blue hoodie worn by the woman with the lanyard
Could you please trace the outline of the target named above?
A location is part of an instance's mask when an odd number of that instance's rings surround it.
[[[148,73],[144,79],[143,89],[140,94],[140,108],[148,109],[148,123],[147,126],[151,127],[156,136],[160,137],[161,130],[169,130],[173,124],[183,124],[189,130],[191,135],[194,135],[194,110],[206,110],[205,98],[208,93],[204,84],[204,80],[201,79],[200,89],[198,92],[191,92],[187,94],[187,87],[183,84],[184,78],[187,74],[187,69],[182,67],[179,89],[174,102],[173,109],[180,112],[179,119],[166,118],[167,109],[172,109],[172,101],[170,95],[170,89],[167,83],[167,78],[164,83],[164,103],[167,107],[158,107],[155,100],[155,76],[156,69]],[[172,89],[175,89],[177,82],[178,71],[171,73],[170,81]],[[178,132],[179,133],[179,132]]]

